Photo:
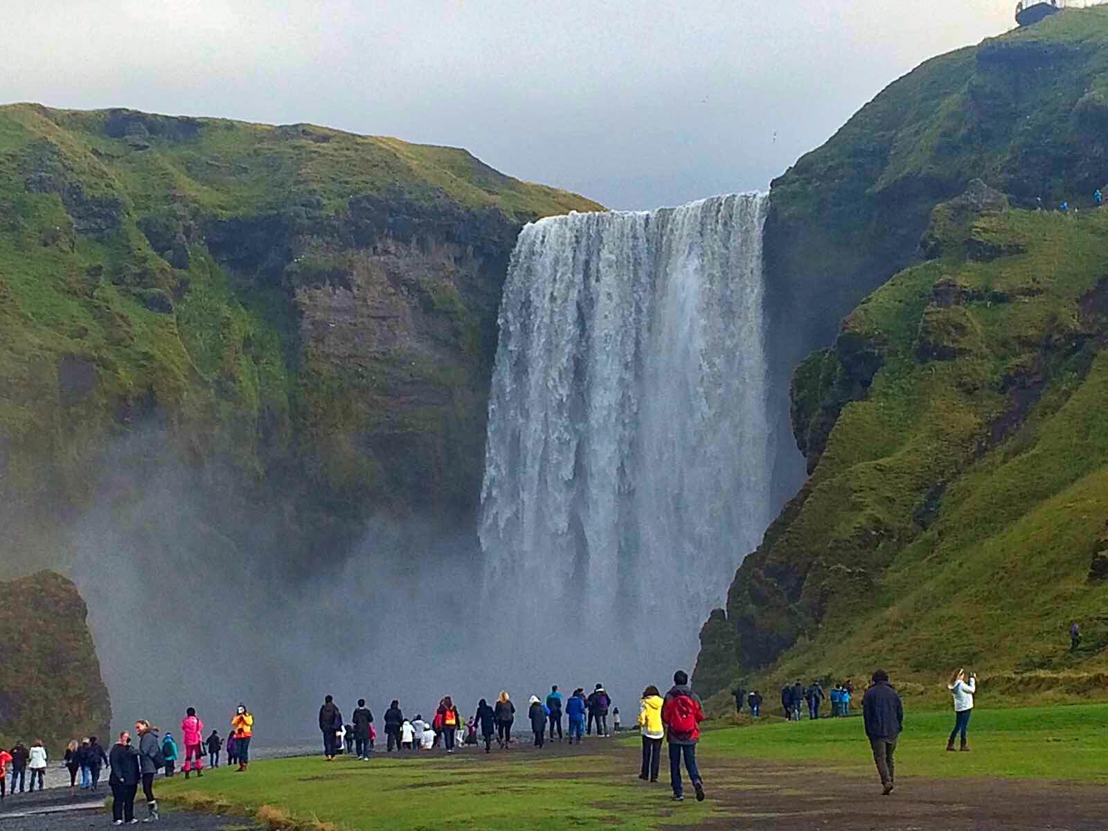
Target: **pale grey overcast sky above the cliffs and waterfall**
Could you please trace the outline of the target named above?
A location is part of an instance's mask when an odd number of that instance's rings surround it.
[[[765,188],[1015,0],[6,0],[0,102],[463,146],[649,208]],[[776,136],[776,137],[774,137]]]

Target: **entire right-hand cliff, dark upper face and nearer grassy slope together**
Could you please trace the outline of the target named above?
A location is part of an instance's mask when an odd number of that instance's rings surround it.
[[[957,620],[956,663],[1070,668],[1050,642],[1102,596],[1086,583],[1102,529],[1063,494],[1099,499],[1104,459],[1056,441],[1090,429],[1105,337],[1105,69],[1108,12],[1066,11],[929,61],[773,183],[771,338],[778,373],[799,363],[811,476],[705,625],[705,691],[934,670]],[[1063,199],[1078,217],[1035,211]],[[1063,526],[1066,551],[1020,536]]]

